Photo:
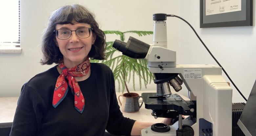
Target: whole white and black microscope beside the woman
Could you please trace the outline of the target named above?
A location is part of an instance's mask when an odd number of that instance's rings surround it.
[[[141,130],[141,136],[231,136],[232,89],[214,65],[178,65],[176,51],[167,48],[167,14],[153,15],[153,45],[129,37],[127,43],[116,40],[113,47],[135,59],[147,59],[157,86],[155,93],[142,93],[146,109],[155,118],[177,119],[171,126],[157,123]],[[181,85],[190,93],[185,101]],[[188,116],[183,119],[182,115]]]

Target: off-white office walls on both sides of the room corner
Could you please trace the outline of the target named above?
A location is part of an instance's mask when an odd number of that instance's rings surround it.
[[[175,14],[186,19],[198,32],[204,43],[212,51],[248,98],[256,78],[256,29],[255,0],[253,0],[253,26],[203,28],[199,26],[199,0],[22,0],[21,1],[21,54],[0,54],[0,97],[19,96],[21,86],[35,74],[52,66],[41,66],[41,51],[38,47],[42,30],[46,27],[50,13],[67,4],[80,3],[96,15],[102,30],[151,30],[153,13]],[[217,65],[190,27],[178,18],[167,19],[168,48],[177,51],[177,64],[215,64]],[[133,35],[134,36],[134,35]],[[128,37],[128,35],[126,36]],[[136,36],[135,36],[136,37]],[[152,43],[152,35],[136,37]],[[107,35],[107,40],[118,39]],[[228,81],[226,76],[225,79]],[[143,87],[143,86],[142,86]],[[233,88],[233,102],[244,102]],[[132,89],[132,85],[129,85]],[[136,84],[136,89],[139,85]],[[145,88],[142,88],[144,90]],[[148,90],[156,89],[151,83]],[[187,95],[186,88],[180,91]]]

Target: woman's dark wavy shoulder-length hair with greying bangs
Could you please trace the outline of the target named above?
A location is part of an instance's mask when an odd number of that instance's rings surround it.
[[[63,55],[57,47],[53,30],[55,30],[56,24],[74,24],[75,22],[91,25],[93,29],[92,32],[96,36],[94,46],[92,46],[89,52],[90,58],[98,60],[105,59],[106,36],[104,32],[99,29],[94,14],[81,5],[68,5],[53,11],[50,16],[42,38],[41,48],[43,57],[40,61],[42,65],[58,64],[63,61]]]

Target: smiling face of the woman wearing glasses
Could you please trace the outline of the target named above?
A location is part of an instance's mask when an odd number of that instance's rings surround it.
[[[91,28],[91,25],[87,23],[76,22],[74,23],[74,25],[57,24],[55,27],[56,30],[72,30],[71,36],[66,40],[58,39],[56,36],[57,46],[59,47],[59,50],[63,55],[64,65],[67,68],[71,68],[82,63],[86,59],[96,39],[96,36],[93,34],[93,32],[91,32],[91,35],[88,38],[79,38],[73,30],[77,30],[80,28]]]

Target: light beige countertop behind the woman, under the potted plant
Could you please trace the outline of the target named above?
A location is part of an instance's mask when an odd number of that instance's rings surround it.
[[[156,92],[156,91],[132,91],[138,93],[141,96],[141,93],[145,92]],[[175,93],[175,92],[172,92]],[[121,95],[121,92],[116,92],[117,97]],[[189,100],[187,97],[182,96],[184,100]],[[13,121],[14,113],[17,107],[17,101],[19,97],[0,97],[0,123],[8,123]],[[121,98],[122,99],[122,98]],[[120,106],[120,105],[119,105]],[[121,106],[120,106],[121,107]],[[120,109],[121,110],[121,109]],[[121,110],[122,111],[122,110]],[[163,118],[155,119],[151,115],[150,109],[145,109],[145,105],[139,109],[138,112],[135,113],[126,113],[123,112],[124,117],[128,117],[141,122],[152,122],[152,123],[160,123]]]

